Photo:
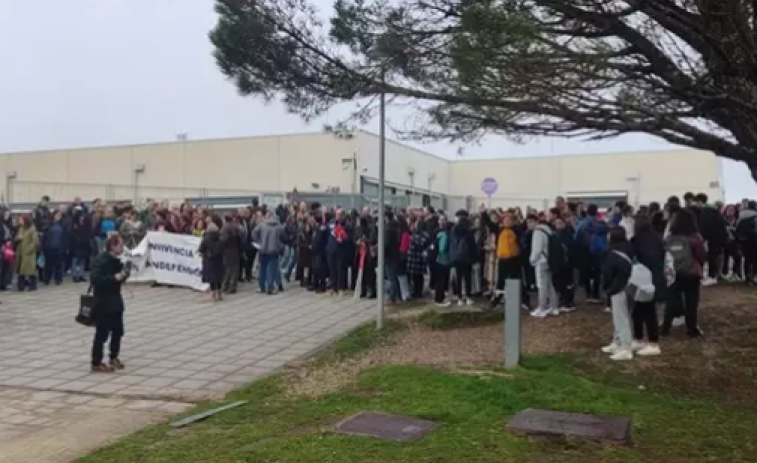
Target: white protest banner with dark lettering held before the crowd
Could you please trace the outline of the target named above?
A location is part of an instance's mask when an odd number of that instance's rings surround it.
[[[139,245],[124,249],[122,260],[131,262],[130,282],[156,281],[207,291],[202,282],[202,258],[197,253],[200,238],[174,233],[148,232]]]

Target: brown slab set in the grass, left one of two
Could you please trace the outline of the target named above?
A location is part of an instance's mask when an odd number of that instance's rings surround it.
[[[433,421],[381,412],[362,412],[336,425],[336,432],[393,442],[417,442],[436,429]]]

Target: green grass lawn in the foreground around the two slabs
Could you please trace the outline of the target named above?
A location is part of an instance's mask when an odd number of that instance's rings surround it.
[[[339,361],[383,342],[363,328],[322,359]],[[232,393],[249,400],[205,422],[173,430],[145,429],[81,459],[135,462],[705,462],[755,461],[757,410],[725,402],[681,399],[608,386],[573,373],[573,362],[532,357],[512,372],[450,373],[384,365],[317,398],[286,394],[291,376],[278,375]],[[217,404],[198,407],[213,408]],[[505,423],[525,408],[629,415],[632,447],[577,439],[524,438]],[[196,412],[194,410],[191,413]],[[341,436],[330,427],[358,411],[384,411],[437,421],[415,444]]]

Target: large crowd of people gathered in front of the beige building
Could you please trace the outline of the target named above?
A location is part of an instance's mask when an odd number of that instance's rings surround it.
[[[315,293],[377,296],[381,250],[372,208],[284,203],[270,209],[252,201],[231,211],[159,202],[137,209],[75,198],[52,209],[43,197],[30,214],[5,210],[2,218],[2,290],[13,274],[19,291],[36,290],[38,281],[60,284],[66,274],[87,281],[90,262],[110,236],[133,248],[156,230],[201,238],[203,281],[216,301],[235,293],[240,282],[255,281],[260,292],[274,295],[292,279]],[[495,309],[505,281],[516,279],[524,308],[545,318],[575,310],[576,288],[582,288],[587,303],[604,304],[613,314],[613,341],[603,350],[616,360],[659,355],[659,337],[673,326],[701,336],[700,286],[755,284],[754,201],[711,205],[706,195],[687,193],[664,205],[635,210],[618,202],[600,210],[557,198],[545,211],[482,205],[449,214],[423,207],[388,210],[384,221],[388,305],[430,296],[439,306],[478,298]],[[627,297],[637,264],[651,272],[652,301]],[[665,307],[661,325],[658,305]]]

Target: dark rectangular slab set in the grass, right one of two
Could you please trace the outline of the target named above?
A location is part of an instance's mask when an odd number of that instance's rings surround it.
[[[507,430],[527,436],[571,436],[629,444],[631,418],[527,409],[507,423]]]

